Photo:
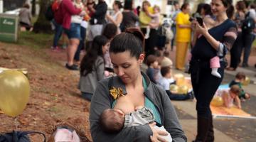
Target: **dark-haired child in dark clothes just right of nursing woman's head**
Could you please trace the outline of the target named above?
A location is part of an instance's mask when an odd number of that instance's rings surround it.
[[[159,62],[154,55],[149,55],[146,58],[146,75],[149,77],[150,81],[156,84],[156,75],[159,72]]]

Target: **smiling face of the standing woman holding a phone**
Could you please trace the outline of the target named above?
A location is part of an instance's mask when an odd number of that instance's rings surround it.
[[[210,9],[214,16],[225,14],[225,11],[227,10],[221,0],[212,0],[210,3]]]

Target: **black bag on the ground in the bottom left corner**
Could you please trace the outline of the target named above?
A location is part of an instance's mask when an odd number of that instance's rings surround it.
[[[38,131],[12,131],[9,133],[0,133],[0,142],[30,142],[28,134],[38,133],[43,135],[46,142],[46,135]]]

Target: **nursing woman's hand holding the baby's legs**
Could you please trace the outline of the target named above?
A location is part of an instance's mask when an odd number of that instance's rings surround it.
[[[151,142],[168,142],[168,141],[166,141],[166,139],[161,138],[161,136],[168,135],[168,133],[166,131],[160,131],[160,130],[154,129],[154,126],[156,126],[156,122],[149,124],[149,126],[153,132],[153,135],[150,136]]]

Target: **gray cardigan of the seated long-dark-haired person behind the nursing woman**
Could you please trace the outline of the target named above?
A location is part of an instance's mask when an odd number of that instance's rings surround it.
[[[95,64],[92,67],[92,72],[86,76],[80,75],[78,89],[81,92],[91,93],[95,91],[97,82],[104,78],[104,60],[101,56],[98,56],[95,60]]]

